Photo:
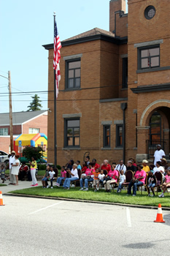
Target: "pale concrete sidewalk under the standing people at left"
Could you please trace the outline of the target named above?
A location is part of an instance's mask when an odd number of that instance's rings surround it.
[[[37,183],[39,184],[39,186],[42,185],[42,181],[37,181]],[[2,192],[2,194],[18,189],[28,189],[29,187],[31,187],[32,181],[18,181],[18,186],[9,185],[9,181],[5,181],[4,184],[7,186],[0,187],[0,191]]]

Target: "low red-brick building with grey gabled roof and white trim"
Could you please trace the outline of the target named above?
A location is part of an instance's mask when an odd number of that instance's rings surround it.
[[[45,133],[47,135],[47,110],[12,113],[13,137],[20,134]],[[0,113],[0,150],[10,153],[9,113]]]

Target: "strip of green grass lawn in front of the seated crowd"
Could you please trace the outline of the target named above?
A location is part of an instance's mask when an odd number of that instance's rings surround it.
[[[72,198],[72,199],[81,199],[81,200],[94,200],[102,202],[111,202],[111,203],[127,203],[134,205],[142,206],[158,206],[158,203],[161,203],[164,207],[170,207],[170,195],[167,193],[165,197],[159,198],[148,197],[147,192],[143,192],[142,195],[137,192],[136,197],[127,196],[126,191],[123,191],[117,194],[115,191],[107,193],[104,189],[101,189],[99,192],[93,192],[93,189],[89,189],[88,192],[79,191],[80,187],[71,188],[69,190],[63,189],[63,187],[53,187],[53,189],[42,189],[41,186],[33,187],[29,189],[20,189],[12,191],[14,194],[22,195],[41,195],[46,197],[63,197],[63,198]],[[160,195],[160,193],[159,193]]]

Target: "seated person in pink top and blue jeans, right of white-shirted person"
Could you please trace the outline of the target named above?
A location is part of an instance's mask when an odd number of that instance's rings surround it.
[[[80,178],[80,191],[88,191],[88,182],[90,181],[93,181],[93,172],[95,171],[94,170],[94,167],[93,166],[93,163],[90,162],[89,165],[88,165],[88,169],[85,170],[85,173],[84,173],[84,176],[82,176],[82,178]],[[83,189],[83,181],[85,181],[85,189]]]

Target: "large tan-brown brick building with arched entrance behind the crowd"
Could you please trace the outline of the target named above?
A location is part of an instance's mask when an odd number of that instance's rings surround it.
[[[109,1],[109,0],[108,0]],[[92,29],[61,42],[57,100],[58,164],[169,154],[169,0],[109,1],[109,31]],[[48,89],[53,90],[53,44]],[[51,95],[49,95],[49,99]],[[54,162],[53,102],[48,107],[48,160]]]

